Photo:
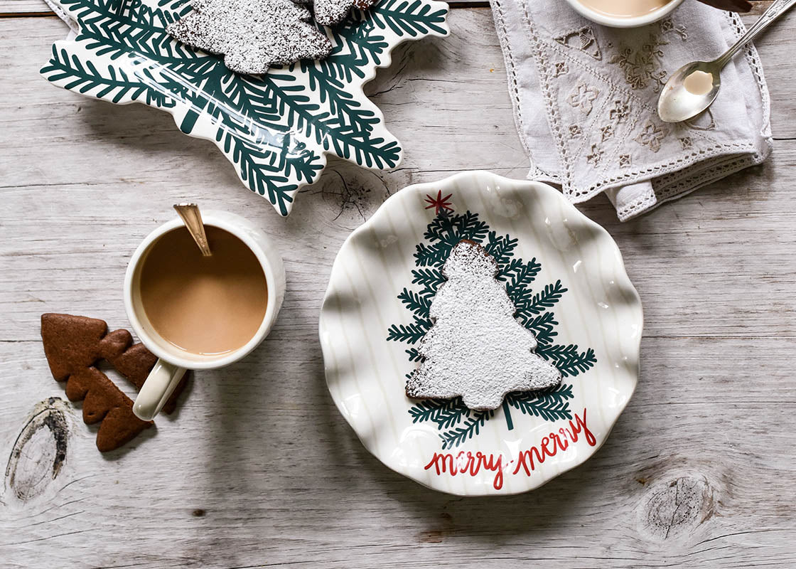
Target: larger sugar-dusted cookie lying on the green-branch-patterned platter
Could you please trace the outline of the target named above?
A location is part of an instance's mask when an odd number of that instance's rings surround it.
[[[332,45],[291,0],[195,0],[193,10],[166,31],[185,44],[223,53],[224,65],[245,74],[271,65],[321,59]]]

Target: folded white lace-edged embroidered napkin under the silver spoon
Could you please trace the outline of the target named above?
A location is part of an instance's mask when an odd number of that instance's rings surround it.
[[[708,112],[681,124],[657,117],[668,74],[712,59],[745,31],[736,14],[695,0],[637,29],[589,22],[564,0],[491,0],[529,179],[572,202],[600,192],[622,221],[771,152],[768,89],[757,51],[721,74]]]

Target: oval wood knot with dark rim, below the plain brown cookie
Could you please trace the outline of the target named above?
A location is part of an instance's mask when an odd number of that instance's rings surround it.
[[[40,496],[66,461],[68,406],[51,397],[38,402],[22,426],[6,465],[6,489],[26,502]]]

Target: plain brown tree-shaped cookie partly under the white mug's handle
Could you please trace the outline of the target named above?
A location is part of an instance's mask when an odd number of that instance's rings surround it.
[[[71,401],[83,400],[84,422],[102,422],[96,439],[100,451],[117,449],[153,425],[136,417],[131,399],[95,367],[98,360],[106,359],[140,390],[157,357],[140,343],[131,345],[130,332],[108,333],[107,324],[95,318],[44,314],[41,339],[53,378],[66,382]],[[187,375],[166,402],[166,413],[174,411]]]

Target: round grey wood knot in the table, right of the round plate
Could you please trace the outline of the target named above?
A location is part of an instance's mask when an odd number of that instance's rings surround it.
[[[713,516],[714,491],[704,476],[669,478],[648,488],[642,501],[642,531],[656,540],[690,535]]]

